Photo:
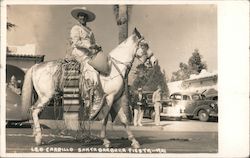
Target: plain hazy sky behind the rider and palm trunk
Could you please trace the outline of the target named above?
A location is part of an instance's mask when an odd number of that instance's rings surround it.
[[[85,5],[96,14],[88,23],[96,42],[104,52],[118,45],[118,27],[112,5]],[[63,58],[70,51],[70,29],[76,20],[73,5],[9,5],[7,20],[17,27],[7,33],[8,45],[36,44],[37,54],[45,60]],[[214,4],[132,5],[129,11],[129,35],[137,28],[167,78],[187,63],[199,49],[208,71],[217,71],[217,7]]]

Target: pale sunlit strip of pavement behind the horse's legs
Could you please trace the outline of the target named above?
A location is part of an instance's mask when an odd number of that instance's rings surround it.
[[[40,120],[41,124],[49,128],[64,128],[62,120]],[[85,122],[88,123],[88,122]],[[161,121],[160,126],[156,126],[151,119],[143,119],[143,126],[130,125],[132,131],[172,131],[172,132],[217,132],[217,122],[200,122],[200,121]],[[95,130],[101,129],[100,121],[91,121],[90,128]],[[122,125],[116,125],[108,122],[107,130],[124,130]]]

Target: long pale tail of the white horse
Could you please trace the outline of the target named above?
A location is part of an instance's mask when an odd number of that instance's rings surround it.
[[[29,117],[29,109],[31,108],[32,104],[32,72],[33,66],[26,72],[22,88],[22,114],[25,118]]]

